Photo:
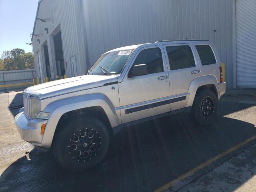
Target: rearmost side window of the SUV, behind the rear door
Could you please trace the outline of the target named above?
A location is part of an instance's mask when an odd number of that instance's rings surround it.
[[[199,54],[202,65],[216,63],[212,48],[209,45],[196,45],[196,50]]]

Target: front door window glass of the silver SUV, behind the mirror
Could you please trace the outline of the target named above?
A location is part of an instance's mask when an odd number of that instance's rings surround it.
[[[164,71],[163,60],[160,48],[145,49],[138,54],[134,65],[146,64],[148,74]]]

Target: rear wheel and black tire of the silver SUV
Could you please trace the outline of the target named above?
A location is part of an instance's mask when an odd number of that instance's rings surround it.
[[[217,98],[211,90],[200,91],[192,106],[191,114],[196,120],[196,124],[207,125],[213,122],[217,115]]]

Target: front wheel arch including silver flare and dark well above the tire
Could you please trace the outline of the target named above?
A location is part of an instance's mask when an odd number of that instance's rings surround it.
[[[48,104],[44,111],[50,112],[50,118],[42,139],[42,147],[44,148],[50,148],[54,134],[60,131],[60,126],[65,123],[65,119],[67,120],[72,115],[74,117],[97,114],[96,118],[106,124],[110,134],[112,127],[120,124],[112,102],[103,94],[88,94],[56,100]]]

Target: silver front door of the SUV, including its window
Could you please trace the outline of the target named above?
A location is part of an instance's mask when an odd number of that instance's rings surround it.
[[[139,64],[146,64],[148,73],[129,77],[133,66]],[[138,50],[118,88],[122,123],[169,112],[170,86],[163,46]]]

